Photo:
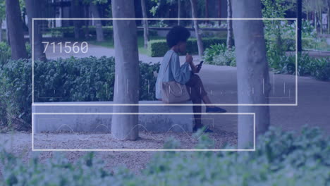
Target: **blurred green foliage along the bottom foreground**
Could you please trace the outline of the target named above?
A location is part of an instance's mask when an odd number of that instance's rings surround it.
[[[201,131],[199,132],[202,133]],[[207,136],[197,148],[209,148]],[[212,144],[212,142],[211,142]],[[169,140],[164,147],[177,148]],[[330,137],[317,128],[304,128],[299,135],[271,128],[259,137],[256,151],[167,151],[154,154],[142,173],[126,168],[111,173],[105,163],[85,154],[75,163],[64,154],[47,159],[37,156],[25,163],[0,150],[4,165],[0,185],[330,185]]]

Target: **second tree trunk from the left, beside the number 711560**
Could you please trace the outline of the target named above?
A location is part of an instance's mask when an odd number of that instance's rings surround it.
[[[40,18],[40,2],[41,0],[25,0],[25,7],[27,11],[27,25],[29,27],[30,44],[33,43],[34,60],[46,61],[46,54],[44,54],[44,44],[42,44],[42,32],[39,32],[39,25],[41,20],[35,20],[33,24],[33,41],[32,41],[32,18]]]

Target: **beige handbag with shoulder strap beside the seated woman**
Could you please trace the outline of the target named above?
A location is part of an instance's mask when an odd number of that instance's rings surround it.
[[[169,63],[171,62],[171,57]],[[169,63],[167,63],[167,66],[164,70],[163,79],[167,68],[169,68]],[[190,100],[190,94],[188,93],[187,87],[185,87],[185,85],[182,85],[176,81],[162,82],[161,100],[165,104],[183,103]]]

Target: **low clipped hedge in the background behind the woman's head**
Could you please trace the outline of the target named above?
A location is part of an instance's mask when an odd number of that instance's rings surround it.
[[[202,41],[204,49],[208,48],[212,44],[226,43],[226,39],[216,37],[203,38]],[[151,40],[148,42],[147,54],[149,56],[161,57],[164,56],[168,50],[169,46],[167,46],[165,39]],[[187,52],[190,54],[198,54],[197,40],[195,38],[188,39]]]

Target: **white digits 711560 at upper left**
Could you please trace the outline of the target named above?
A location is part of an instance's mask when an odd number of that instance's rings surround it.
[[[42,42],[43,44],[46,44],[46,46],[44,46],[44,53],[46,53],[48,47],[52,47],[53,49],[53,53],[56,53],[56,47],[55,45],[59,45],[59,53],[79,53],[82,52],[84,54],[86,54],[88,52],[88,43],[87,42],[74,42],[72,44],[72,42]]]

